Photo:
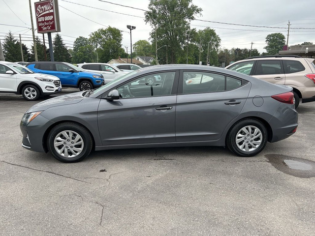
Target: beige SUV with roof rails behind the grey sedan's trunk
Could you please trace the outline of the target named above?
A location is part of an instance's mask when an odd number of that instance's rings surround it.
[[[239,60],[225,67],[273,84],[293,88],[295,108],[304,102],[315,101],[314,58],[298,56],[262,56]]]

